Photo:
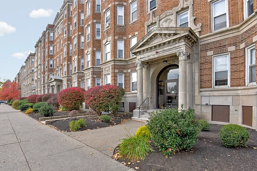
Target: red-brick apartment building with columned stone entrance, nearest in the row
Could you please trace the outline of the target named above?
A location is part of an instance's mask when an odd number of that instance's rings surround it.
[[[113,84],[135,120],[183,104],[256,129],[256,13],[256,0],[64,1],[41,36],[42,93]]]

